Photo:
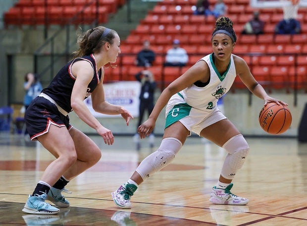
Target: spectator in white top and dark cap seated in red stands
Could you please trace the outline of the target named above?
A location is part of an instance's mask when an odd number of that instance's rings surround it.
[[[173,47],[166,52],[164,66],[185,66],[189,61],[189,56],[184,48],[181,48],[180,41],[175,39]]]

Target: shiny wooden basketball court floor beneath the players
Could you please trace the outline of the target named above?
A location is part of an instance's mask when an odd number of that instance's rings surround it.
[[[148,138],[136,150],[131,136],[115,136],[111,146],[91,136],[102,159],[68,183],[71,205],[57,215],[21,210],[53,160],[37,141],[0,134],[0,226],[306,226],[307,144],[295,138],[247,138],[251,147],[232,192],[250,199],[245,206],[213,205],[208,199],[226,155],[200,137],[188,137],[175,160],[145,181],[118,209],[111,192],[127,181],[140,161],[154,151]]]

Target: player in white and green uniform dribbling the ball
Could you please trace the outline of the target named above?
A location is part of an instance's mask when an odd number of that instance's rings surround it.
[[[232,194],[230,189],[250,148],[237,128],[219,111],[217,101],[229,91],[238,75],[254,95],[263,99],[264,104],[287,104],[270,97],[256,82],[247,63],[232,54],[236,39],[232,21],[228,17],[218,18],[212,33],[213,53],[200,59],[163,90],[149,119],[138,128],[141,138],[148,136],[153,131],[159,113],[167,104],[161,144],[140,163],[126,183],[112,192],[118,207],[131,208],[130,197],[138,185],[167,166],[191,132],[205,137],[228,152],[209,201],[224,205],[246,205],[249,202],[247,198]]]

